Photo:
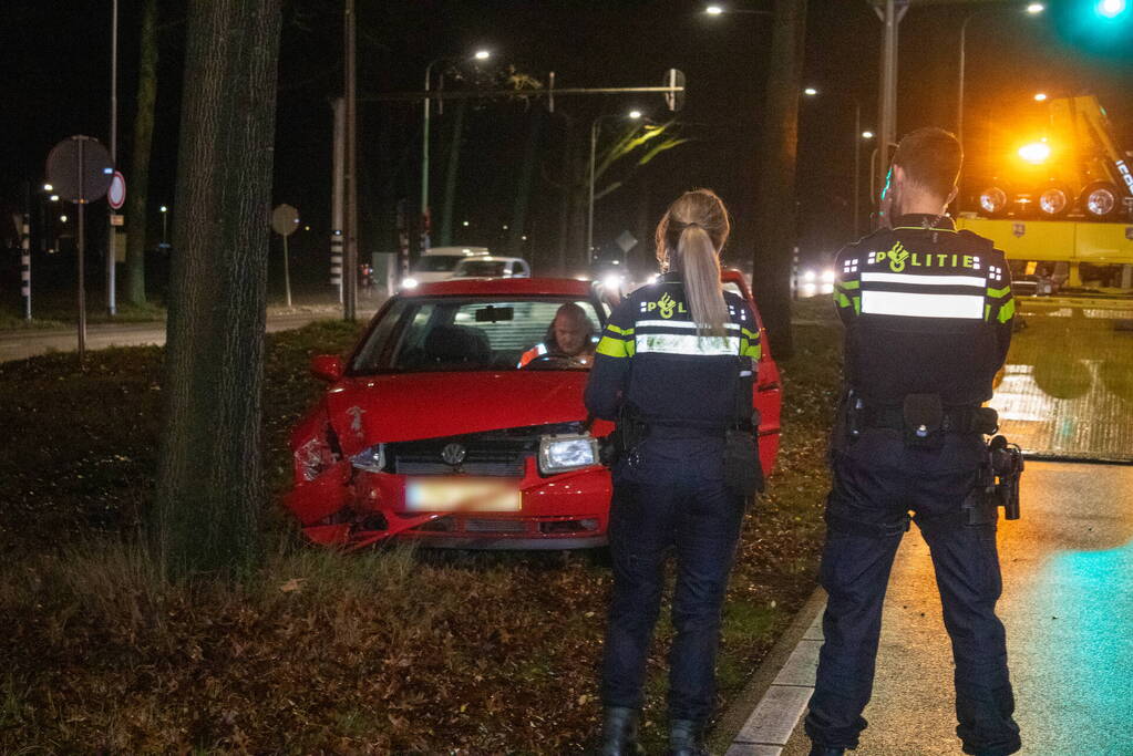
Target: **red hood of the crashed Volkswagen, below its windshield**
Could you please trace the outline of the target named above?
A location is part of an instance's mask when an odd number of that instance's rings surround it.
[[[343,452],[586,418],[583,370],[417,372],[347,378],[326,395]]]

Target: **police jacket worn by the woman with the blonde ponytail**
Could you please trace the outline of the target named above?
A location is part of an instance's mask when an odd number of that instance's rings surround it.
[[[587,410],[614,420],[622,404],[630,403],[650,426],[684,429],[722,430],[741,413],[747,421],[759,326],[742,298],[724,292],[724,300],[731,317],[726,335],[710,336],[697,333],[676,273],[627,297],[598,342]],[[746,409],[738,409],[744,392]]]

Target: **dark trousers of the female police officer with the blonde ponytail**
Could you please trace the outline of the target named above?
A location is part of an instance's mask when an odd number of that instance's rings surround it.
[[[724,487],[724,439],[658,431],[614,466],[610,553],[614,590],[602,670],[606,706],[640,708],[665,561],[676,561],[668,654],[671,719],[705,722],[716,704],[721,608],[743,499]]]

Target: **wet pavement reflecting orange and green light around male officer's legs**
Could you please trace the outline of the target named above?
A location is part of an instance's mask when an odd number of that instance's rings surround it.
[[[999,617],[1021,754],[1133,754],[1133,466],[1029,462],[1023,518],[1000,522]],[[804,711],[820,644],[821,591],[787,648],[757,673],[727,756],[806,756]],[[792,632],[789,632],[789,636]],[[960,754],[952,654],[928,547],[902,542],[889,582],[869,728],[855,756]]]

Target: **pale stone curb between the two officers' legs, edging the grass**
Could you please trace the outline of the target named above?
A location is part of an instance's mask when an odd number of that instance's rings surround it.
[[[778,756],[813,690],[825,607],[826,592],[817,587],[716,722],[709,739],[713,753]]]

